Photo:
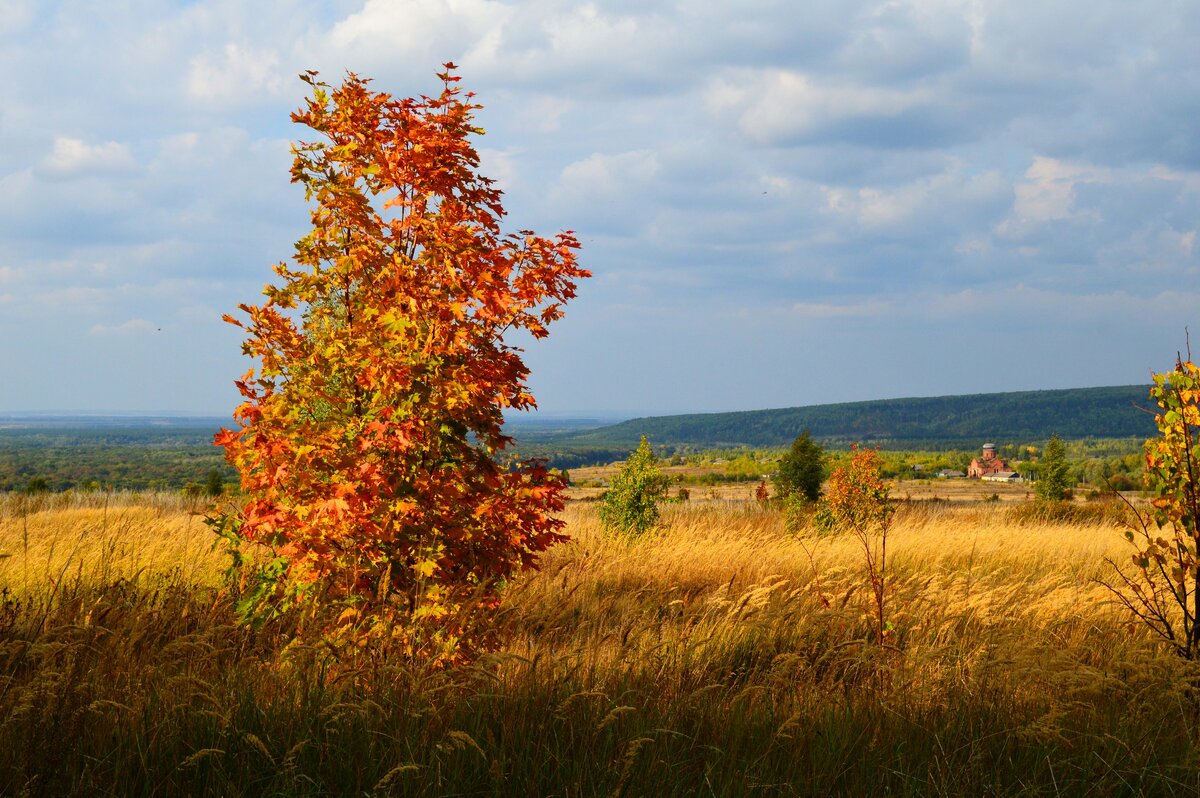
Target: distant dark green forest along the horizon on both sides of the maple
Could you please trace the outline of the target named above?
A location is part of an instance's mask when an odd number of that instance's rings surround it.
[[[852,443],[888,450],[974,451],[982,443],[1038,444],[1057,433],[1067,440],[1148,438],[1154,419],[1148,386],[1087,388],[932,398],[881,400],[740,413],[634,419],[581,428],[580,422],[510,425],[515,456],[546,457],[557,468],[623,460],[641,436],[660,452],[712,449],[782,449],[809,430],[824,446]],[[62,419],[0,424],[0,491],[179,490],[217,469],[236,474],[212,445],[217,419],[131,425]],[[128,425],[128,426],[122,426]]]

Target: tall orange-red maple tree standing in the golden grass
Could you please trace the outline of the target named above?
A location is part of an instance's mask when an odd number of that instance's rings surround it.
[[[292,180],[312,229],[265,302],[226,317],[260,365],[216,437],[247,498],[212,520],[272,553],[247,613],[302,607],[323,634],[434,660],[467,655],[500,581],[563,538],[562,480],[500,460],[504,410],[535,407],[505,336],[546,336],[588,276],[571,233],[502,232],[454,71],[403,100],[301,76]]]

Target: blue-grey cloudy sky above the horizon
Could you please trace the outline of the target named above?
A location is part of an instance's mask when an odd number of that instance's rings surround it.
[[[1200,335],[1190,0],[0,0],[0,413],[230,413],[296,76],[445,61],[508,228],[594,274],[526,346],[546,414],[1145,383]]]

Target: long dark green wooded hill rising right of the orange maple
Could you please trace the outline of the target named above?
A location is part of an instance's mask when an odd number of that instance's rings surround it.
[[[629,450],[643,434],[656,446],[774,448],[791,444],[804,430],[826,445],[888,449],[1033,443],[1055,433],[1066,439],[1146,438],[1154,432],[1148,391],[1148,385],[1121,385],[665,415],[541,438],[535,448],[554,461],[588,450]]]

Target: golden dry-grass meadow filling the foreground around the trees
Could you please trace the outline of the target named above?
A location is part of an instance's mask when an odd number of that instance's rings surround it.
[[[856,540],[697,498],[634,540],[571,502],[439,672],[238,625],[178,494],[0,497],[0,794],[1200,792],[1196,671],[1102,584],[1116,510],[904,503],[881,647]]]

